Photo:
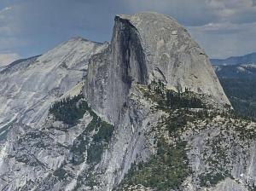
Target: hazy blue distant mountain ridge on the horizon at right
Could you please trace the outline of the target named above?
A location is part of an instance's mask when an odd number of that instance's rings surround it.
[[[241,56],[231,56],[227,59],[211,59],[212,65],[236,65],[256,63],[256,52]]]

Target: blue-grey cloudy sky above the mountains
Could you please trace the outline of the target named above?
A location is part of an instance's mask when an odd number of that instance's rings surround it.
[[[211,58],[256,51],[256,0],[0,0],[0,66],[77,36],[109,42],[115,14],[142,11],[177,19]]]

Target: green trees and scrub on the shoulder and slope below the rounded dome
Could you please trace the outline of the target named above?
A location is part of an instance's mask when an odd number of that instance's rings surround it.
[[[168,145],[163,138],[156,138],[157,154],[152,156],[148,162],[132,165],[121,184],[122,190],[139,184],[155,190],[179,189],[185,178],[192,173],[186,155],[186,142],[181,140],[181,135],[185,130],[191,128],[191,125],[194,128],[194,135],[199,130],[198,127],[201,128],[200,130],[207,129],[211,120],[220,116],[227,120],[223,122],[223,124],[225,123],[224,127],[239,131],[238,136],[242,137],[242,140],[255,138],[255,131],[245,128],[249,120],[241,119],[241,115],[230,110],[229,106],[225,106],[225,109],[212,107],[209,103],[204,102],[203,97],[198,94],[187,89],[183,93],[167,90],[161,82],[153,82],[148,85],[147,90],[145,88],[142,90],[146,98],[157,103],[157,108],[169,113],[165,119],[162,119],[158,129],[168,130],[169,138],[167,139],[174,143]],[[235,123],[233,121],[238,119],[242,122]],[[208,135],[210,136],[210,133]],[[209,171],[199,176],[201,187],[212,187],[224,178],[231,177],[230,171],[227,170],[230,156],[227,155],[226,149],[232,148],[225,148],[227,146],[221,144],[221,142],[226,142],[225,139],[226,136],[222,134],[219,137],[209,138],[212,140],[208,140],[210,145],[207,145],[207,149],[202,151],[203,160],[209,165]],[[172,169],[172,167],[176,169]]]

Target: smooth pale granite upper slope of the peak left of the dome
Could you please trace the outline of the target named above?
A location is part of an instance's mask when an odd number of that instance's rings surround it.
[[[0,126],[44,122],[49,106],[87,72],[91,55],[106,44],[72,38],[44,55],[14,62],[0,72]]]

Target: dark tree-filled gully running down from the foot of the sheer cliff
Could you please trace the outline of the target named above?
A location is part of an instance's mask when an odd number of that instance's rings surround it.
[[[83,163],[85,153],[87,153],[86,162],[90,165],[90,170],[86,171],[86,173],[83,172],[78,177],[76,189],[84,184],[90,186],[90,188],[97,185],[93,174],[94,166],[101,161],[102,153],[108,147],[108,143],[113,136],[113,125],[103,121],[91,110],[89,112],[93,119],[84,132],[73,142],[70,150],[73,154],[71,161],[73,165]]]

